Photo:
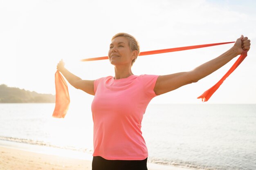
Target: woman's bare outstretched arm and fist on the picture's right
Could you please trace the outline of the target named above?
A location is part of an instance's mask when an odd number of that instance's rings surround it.
[[[216,57],[215,59],[210,60],[209,62],[206,62],[191,71],[170,75],[160,75],[157,78],[157,82],[155,84],[155,94],[162,95],[186,84],[198,82],[198,80],[206,77],[207,75],[210,75],[220,67],[227,64],[234,57],[240,55],[243,50],[249,50],[250,45],[250,40],[248,40],[247,37],[243,37],[243,35],[241,35],[241,37],[236,40],[234,46],[231,49],[219,57]]]

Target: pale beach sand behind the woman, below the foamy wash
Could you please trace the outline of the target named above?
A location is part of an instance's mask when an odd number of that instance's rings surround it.
[[[0,170],[91,170],[92,161],[0,146]],[[148,163],[148,170],[189,170]]]

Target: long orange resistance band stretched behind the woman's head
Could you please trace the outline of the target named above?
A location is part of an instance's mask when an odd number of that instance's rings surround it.
[[[234,43],[234,42],[222,42],[222,43],[215,43],[215,44],[204,44],[204,45],[178,47],[178,48],[172,48],[172,49],[145,51],[145,52],[141,52],[140,55],[151,55],[151,54],[159,54],[159,53],[168,53],[173,51],[198,49],[198,48],[207,47],[207,46],[216,46],[216,45],[229,44],[229,43]],[[220,81],[216,83],[213,87],[211,87],[209,90],[205,91],[200,97],[198,97],[198,99],[201,98],[202,102],[208,101],[209,98],[213,95],[213,93],[224,82],[224,80],[239,66],[241,62],[243,62],[246,56],[247,56],[247,51],[243,51],[243,53],[240,55],[238,60],[229,69],[229,71],[220,79]],[[88,58],[88,59],[83,59],[81,61],[94,61],[94,60],[105,60],[105,59],[108,59],[108,57]],[[58,118],[64,118],[70,104],[70,97],[67,89],[67,84],[64,78],[61,76],[61,74],[58,71],[56,71],[55,73],[55,86],[56,86],[56,104],[55,104],[55,109],[52,116],[58,117]]]

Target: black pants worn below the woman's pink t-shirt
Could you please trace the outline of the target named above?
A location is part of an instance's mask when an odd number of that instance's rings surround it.
[[[92,159],[92,170],[148,170],[147,160],[107,160],[97,156]]]

